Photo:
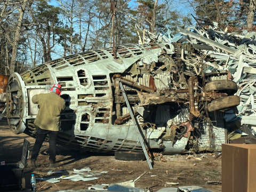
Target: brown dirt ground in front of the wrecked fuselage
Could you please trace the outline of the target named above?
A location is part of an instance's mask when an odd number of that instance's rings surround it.
[[[0,161],[19,161],[25,138],[30,142],[31,150],[35,139],[24,133],[19,135],[12,133],[6,118],[3,118],[0,121]],[[134,180],[145,171],[146,174],[135,182],[135,187],[157,191],[167,187],[200,186],[215,192],[221,191],[221,156],[218,153],[164,156],[155,154],[153,170],[150,170],[147,161],[120,161],[116,160],[114,155],[87,153],[57,146],[57,162],[60,166],[51,169],[48,167],[47,147],[48,143],[45,142],[37,159],[37,169],[30,169],[27,166],[23,170],[23,177],[26,179],[26,189],[23,191],[30,191],[31,173],[34,173],[36,178],[56,178],[61,175],[71,175],[73,169],[79,170],[85,167],[90,167],[90,172],[94,173],[106,172],[99,174],[97,176],[99,179],[92,181],[61,180],[58,183],[51,183],[37,180],[36,191],[88,189],[97,183],[110,184]],[[47,173],[50,170],[64,172],[59,175],[49,175]],[[209,181],[214,184],[209,184]]]

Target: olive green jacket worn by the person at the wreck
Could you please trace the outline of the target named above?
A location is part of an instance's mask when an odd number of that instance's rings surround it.
[[[65,109],[65,100],[57,93],[50,92],[34,95],[32,102],[39,106],[35,125],[43,130],[59,131],[60,113]]]

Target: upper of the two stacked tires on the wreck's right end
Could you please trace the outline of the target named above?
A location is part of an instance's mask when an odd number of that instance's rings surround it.
[[[228,95],[233,95],[237,90],[236,82],[227,79],[215,80],[205,85],[205,92],[220,91]]]

